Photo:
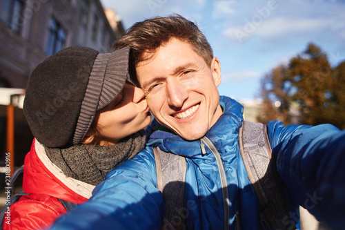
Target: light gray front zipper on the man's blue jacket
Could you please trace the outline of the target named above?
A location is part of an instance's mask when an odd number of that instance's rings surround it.
[[[221,157],[217,148],[213,145],[213,143],[207,137],[201,137],[201,149],[203,150],[203,154],[206,153],[205,147],[203,142],[210,148],[210,151],[215,155],[219,175],[221,180],[221,190],[223,191],[223,200],[224,200],[224,229],[229,229],[229,218],[230,218],[230,211],[229,211],[229,195],[228,195],[228,182],[226,181],[226,175],[224,171],[223,163],[221,162]]]

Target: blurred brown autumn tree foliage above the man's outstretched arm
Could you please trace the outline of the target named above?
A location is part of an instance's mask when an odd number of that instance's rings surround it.
[[[277,66],[261,81],[259,122],[334,124],[345,128],[345,61],[334,68],[314,44],[289,64]]]

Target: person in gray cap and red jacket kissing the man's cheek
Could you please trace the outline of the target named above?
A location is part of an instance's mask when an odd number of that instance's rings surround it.
[[[63,49],[32,71],[23,111],[34,135],[23,195],[4,229],[43,229],[86,202],[106,173],[144,148],[150,123],[144,93],[126,82],[129,48],[100,54]],[[7,223],[6,223],[7,222]]]

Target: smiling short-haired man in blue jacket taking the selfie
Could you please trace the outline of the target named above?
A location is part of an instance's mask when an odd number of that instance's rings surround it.
[[[239,153],[243,108],[219,97],[220,64],[204,35],[178,15],[157,17],[135,23],[115,44],[124,46],[132,48],[131,76],[161,126],[154,127],[144,151],[108,173],[95,195],[53,229],[159,229],[164,201],[157,189],[156,146],[186,159],[181,215],[187,229],[264,229]],[[302,205],[342,227],[345,132],[278,121],[267,132],[291,221],[299,221]]]

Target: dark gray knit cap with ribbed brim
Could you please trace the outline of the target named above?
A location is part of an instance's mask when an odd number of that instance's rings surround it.
[[[109,53],[69,47],[39,64],[29,77],[23,104],[34,137],[52,148],[79,144],[97,111],[124,87],[128,55],[129,47]]]

